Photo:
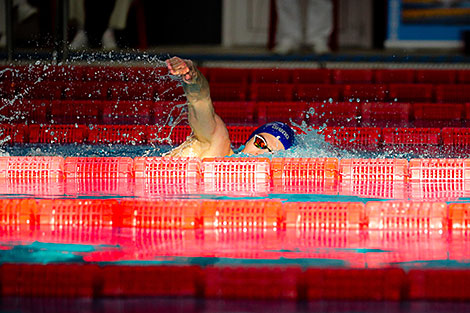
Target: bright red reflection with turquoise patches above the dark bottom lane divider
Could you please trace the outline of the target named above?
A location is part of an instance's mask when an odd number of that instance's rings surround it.
[[[1,226],[5,262],[298,264],[382,268],[468,266],[464,231]]]

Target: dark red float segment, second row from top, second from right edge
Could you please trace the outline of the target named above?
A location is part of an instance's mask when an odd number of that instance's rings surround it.
[[[399,102],[430,102],[433,99],[431,84],[390,84],[389,98]]]

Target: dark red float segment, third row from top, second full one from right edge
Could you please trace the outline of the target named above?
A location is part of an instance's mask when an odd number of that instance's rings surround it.
[[[410,121],[411,105],[405,102],[364,102],[361,125],[376,127],[406,126]]]

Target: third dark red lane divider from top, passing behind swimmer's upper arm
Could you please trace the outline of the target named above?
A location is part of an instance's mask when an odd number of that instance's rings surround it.
[[[466,126],[470,103],[214,101],[228,125],[271,121],[317,126]],[[183,101],[22,100],[0,101],[9,123],[165,125],[185,119]]]

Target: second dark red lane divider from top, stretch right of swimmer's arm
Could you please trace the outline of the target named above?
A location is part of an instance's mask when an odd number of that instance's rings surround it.
[[[467,84],[211,83],[214,100],[467,102]]]

